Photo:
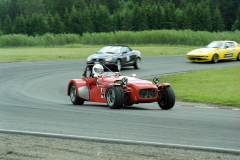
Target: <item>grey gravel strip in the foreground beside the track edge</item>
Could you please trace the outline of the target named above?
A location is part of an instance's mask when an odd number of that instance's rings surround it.
[[[239,160],[240,151],[0,131],[0,160]]]

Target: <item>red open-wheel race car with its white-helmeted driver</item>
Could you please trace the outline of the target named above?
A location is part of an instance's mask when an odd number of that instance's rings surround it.
[[[86,67],[82,78],[69,81],[67,94],[74,105],[89,101],[107,103],[111,109],[119,109],[123,105],[157,102],[161,109],[171,109],[175,104],[174,91],[169,83],[158,82],[158,77],[151,82],[136,78],[135,74],[121,76],[104,64],[95,64]]]

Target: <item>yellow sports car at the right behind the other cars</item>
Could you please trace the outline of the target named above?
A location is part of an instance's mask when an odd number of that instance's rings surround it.
[[[213,62],[237,59],[240,61],[240,45],[235,41],[213,41],[205,48],[195,49],[187,53],[192,62]]]

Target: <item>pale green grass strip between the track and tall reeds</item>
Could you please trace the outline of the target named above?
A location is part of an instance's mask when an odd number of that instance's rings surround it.
[[[72,44],[63,47],[17,47],[0,48],[0,61],[42,61],[57,59],[85,59],[100,50],[103,45]],[[131,45],[142,56],[186,54],[196,46],[181,45]]]

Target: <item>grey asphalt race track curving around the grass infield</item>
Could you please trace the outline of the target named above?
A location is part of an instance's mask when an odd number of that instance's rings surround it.
[[[153,77],[237,65],[240,62],[235,60],[191,63],[185,55],[143,57],[140,70],[128,67],[121,73]],[[81,78],[84,68],[85,60],[0,63],[0,131],[240,150],[238,109],[183,102],[177,102],[167,111],[161,110],[157,103],[120,110],[100,103],[72,105],[66,95],[67,84],[70,79]],[[186,92],[189,89],[191,86]]]

